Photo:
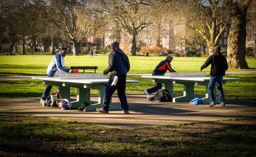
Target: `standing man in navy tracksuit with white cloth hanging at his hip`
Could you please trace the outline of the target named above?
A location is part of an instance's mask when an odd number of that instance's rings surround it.
[[[130,63],[127,55],[119,48],[118,42],[112,43],[112,52],[108,55],[108,66],[103,74],[111,72],[109,80],[106,84],[103,104],[96,111],[100,113],[108,113],[110,99],[115,90],[121,103],[124,114],[128,114],[129,107],[125,95],[126,74],[130,70]]]

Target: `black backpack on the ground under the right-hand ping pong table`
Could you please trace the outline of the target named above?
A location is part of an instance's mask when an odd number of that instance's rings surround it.
[[[167,89],[159,89],[154,96],[149,98],[149,101],[170,102],[170,101],[172,101],[172,98]]]

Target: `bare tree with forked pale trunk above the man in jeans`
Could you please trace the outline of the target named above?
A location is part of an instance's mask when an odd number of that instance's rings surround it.
[[[228,24],[228,10],[222,7],[222,0],[193,0],[188,5],[186,25],[201,35],[210,55]]]

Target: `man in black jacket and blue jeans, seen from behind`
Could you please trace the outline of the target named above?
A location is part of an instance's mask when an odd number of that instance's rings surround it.
[[[223,56],[220,52],[220,47],[215,46],[213,48],[213,54],[208,57],[205,63],[201,66],[201,70],[206,68],[208,65],[210,67],[210,80],[208,85],[208,95],[209,95],[209,107],[215,105],[215,96],[213,94],[213,89],[215,84],[217,83],[218,95],[220,100],[220,105],[225,106],[225,98],[224,92],[222,88],[223,76],[225,75],[225,71],[228,69],[227,61],[225,56]]]

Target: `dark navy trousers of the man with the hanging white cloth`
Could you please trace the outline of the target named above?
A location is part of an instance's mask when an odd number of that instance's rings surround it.
[[[117,96],[120,100],[121,107],[122,107],[123,110],[126,111],[126,110],[129,109],[128,104],[127,104],[126,95],[125,95],[126,76],[118,76],[118,80],[117,80],[116,85],[111,86],[111,84],[113,82],[113,79],[114,79],[114,76],[110,75],[109,80],[106,84],[102,109],[104,111],[108,111],[111,97],[112,97],[114,91],[117,90]]]

